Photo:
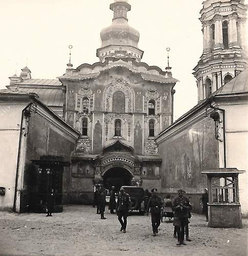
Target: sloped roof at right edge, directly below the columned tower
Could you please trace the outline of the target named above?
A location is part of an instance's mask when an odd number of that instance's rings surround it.
[[[248,68],[240,72],[230,82],[224,84],[213,95],[248,92]],[[212,96],[213,96],[212,95]]]

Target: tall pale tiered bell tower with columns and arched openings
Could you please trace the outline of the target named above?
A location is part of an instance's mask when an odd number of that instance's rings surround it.
[[[203,52],[193,75],[198,102],[245,69],[247,63],[244,0],[206,0],[200,11]]]

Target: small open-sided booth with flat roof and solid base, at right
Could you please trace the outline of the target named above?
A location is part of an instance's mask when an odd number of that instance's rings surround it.
[[[217,168],[204,170],[208,176],[209,227],[242,227],[238,175],[244,170]]]

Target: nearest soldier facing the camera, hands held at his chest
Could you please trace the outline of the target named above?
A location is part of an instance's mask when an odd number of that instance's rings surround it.
[[[184,241],[185,226],[188,224],[188,211],[191,210],[189,199],[184,196],[183,189],[178,190],[178,197],[173,202],[174,211],[173,225],[176,226],[177,240],[176,245],[186,245]]]

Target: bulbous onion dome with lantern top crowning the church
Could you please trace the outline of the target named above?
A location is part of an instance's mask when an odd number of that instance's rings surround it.
[[[104,28],[101,33],[102,45],[97,50],[101,61],[105,57],[115,57],[116,51],[124,51],[125,57],[134,57],[138,61],[142,58],[143,51],[138,48],[140,33],[128,25],[127,12],[131,6],[126,1],[115,1],[110,4],[114,11],[112,25]]]

